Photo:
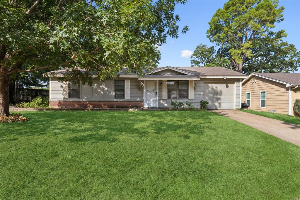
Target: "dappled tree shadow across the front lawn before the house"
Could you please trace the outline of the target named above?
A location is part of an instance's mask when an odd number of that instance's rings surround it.
[[[116,142],[119,135],[144,137],[149,134],[174,134],[190,139],[213,130],[214,113],[203,111],[47,111],[24,113],[30,121],[4,125],[6,135],[70,135],[74,142]],[[3,125],[2,125],[3,126]]]

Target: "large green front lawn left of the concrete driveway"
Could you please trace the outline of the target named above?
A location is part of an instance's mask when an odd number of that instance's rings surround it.
[[[205,111],[22,112],[0,199],[297,199],[300,147]]]

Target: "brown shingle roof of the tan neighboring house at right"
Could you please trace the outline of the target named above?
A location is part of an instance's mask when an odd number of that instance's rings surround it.
[[[300,73],[253,73],[289,84],[300,84]]]

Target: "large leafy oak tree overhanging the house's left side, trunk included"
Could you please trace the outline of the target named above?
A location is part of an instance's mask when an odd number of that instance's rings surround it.
[[[185,0],[2,0],[0,115],[9,114],[8,87],[19,72],[67,68],[89,83],[95,73],[103,80],[124,67],[151,70],[156,46],[178,37],[177,3]]]

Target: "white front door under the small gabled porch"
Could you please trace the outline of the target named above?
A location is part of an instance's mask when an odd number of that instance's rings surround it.
[[[157,107],[157,81],[146,80],[145,81],[145,105],[146,108]]]

